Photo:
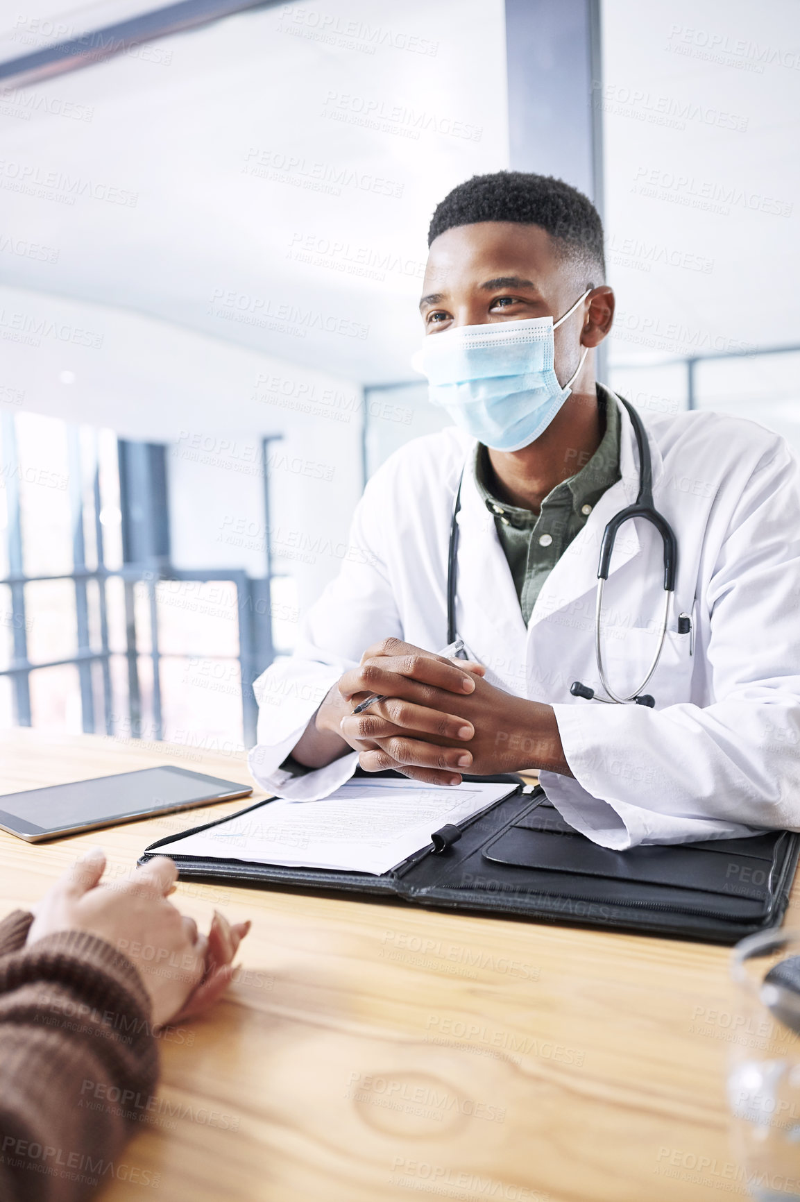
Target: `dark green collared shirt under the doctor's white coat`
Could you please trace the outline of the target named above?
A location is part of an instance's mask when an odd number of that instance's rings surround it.
[[[538,513],[508,505],[497,495],[486,447],[478,444],[474,481],[486,508],[494,514],[500,545],[517,588],[525,624],[530,621],[542,585],[607,488],[621,480],[620,407],[614,397],[597,386],[605,432],[589,463],[548,493]]]

